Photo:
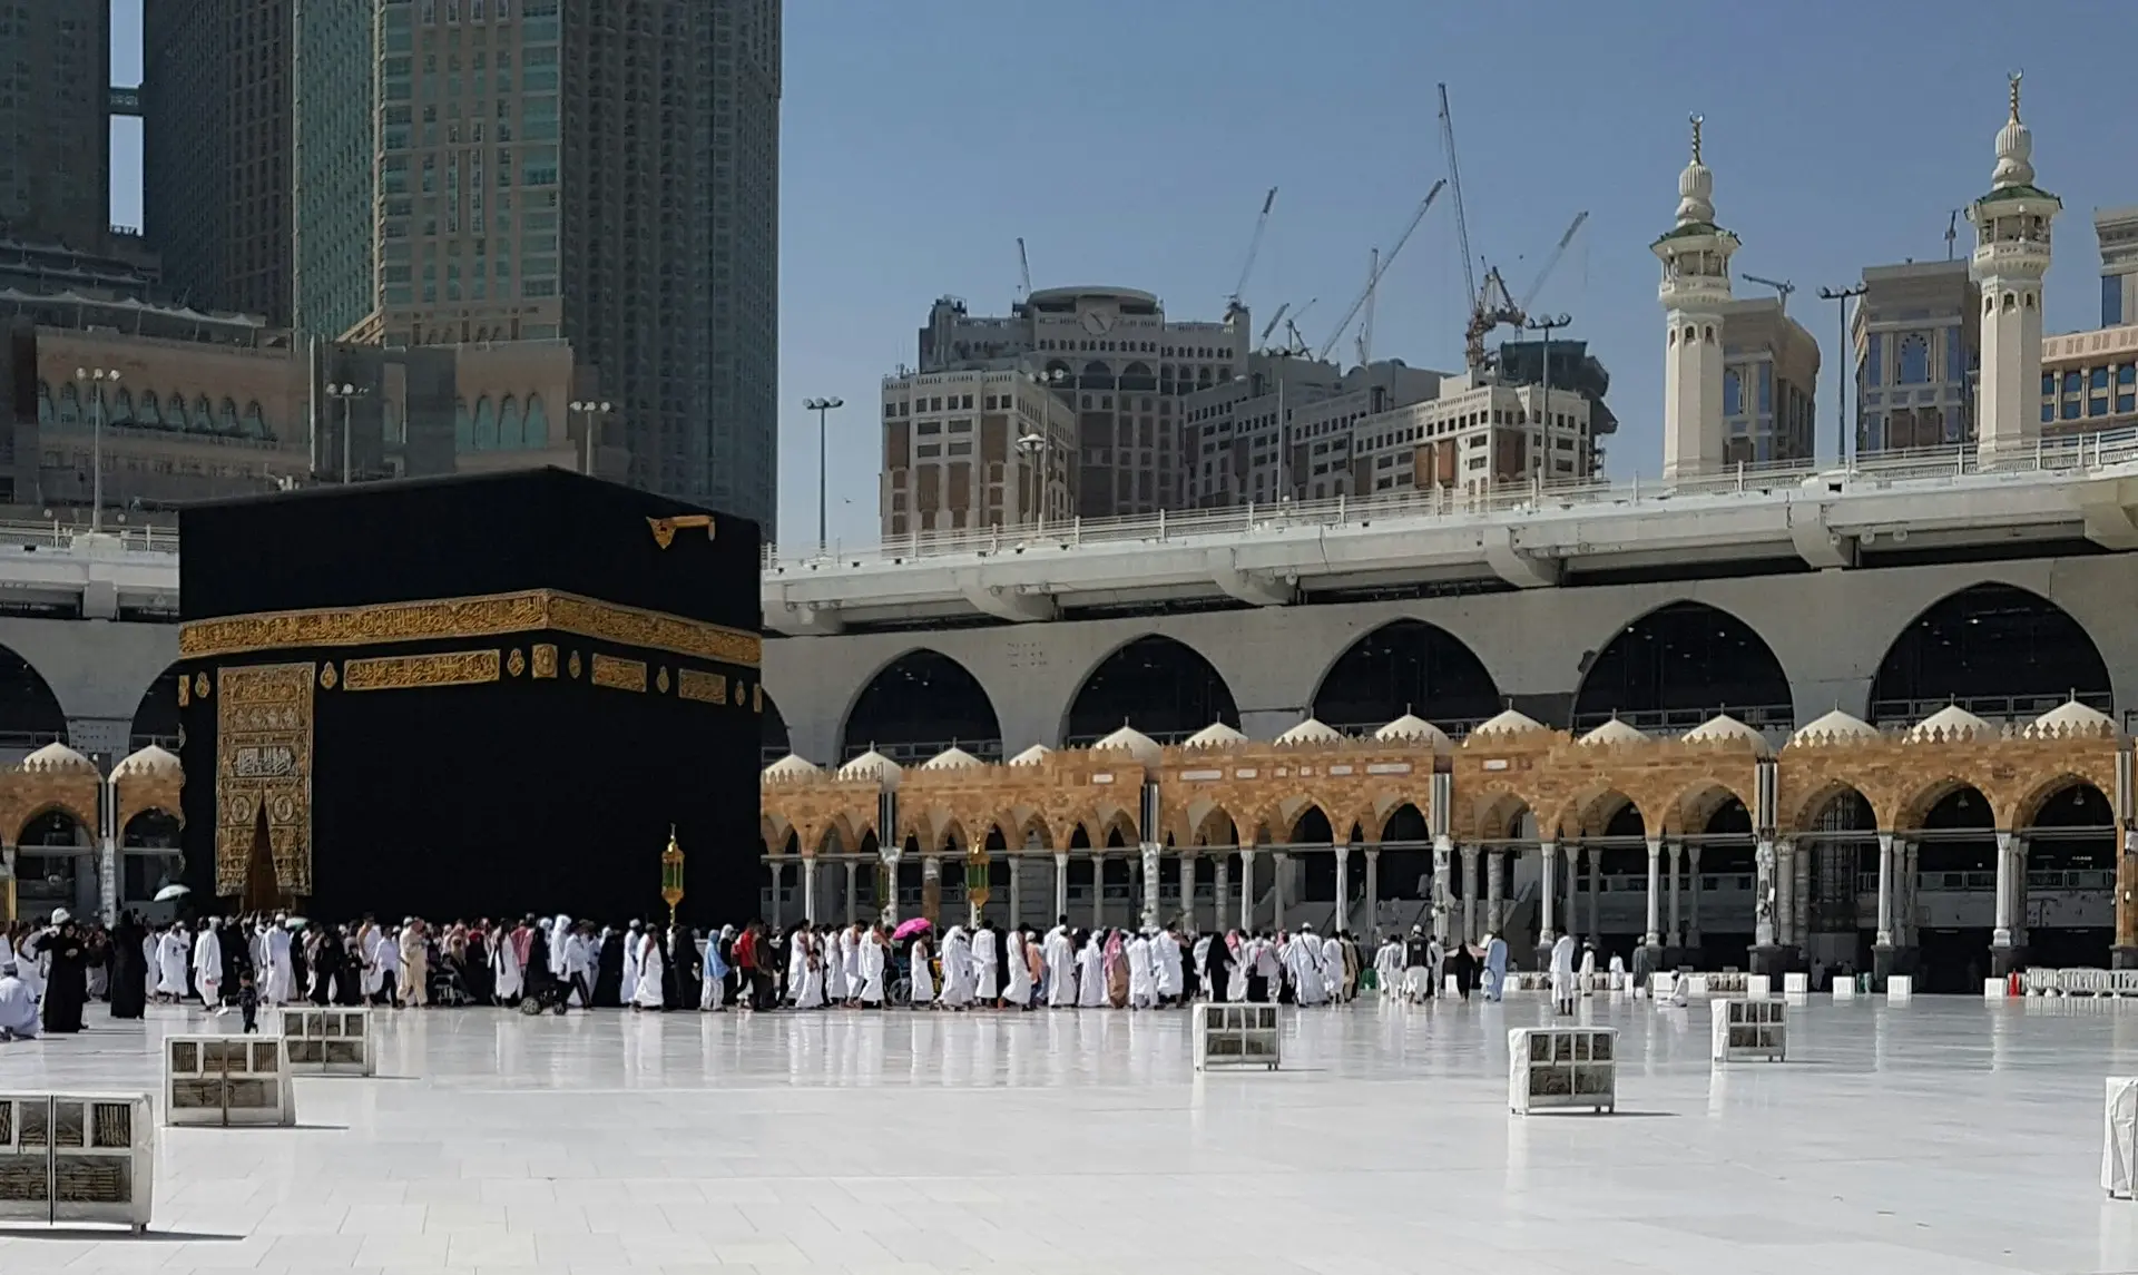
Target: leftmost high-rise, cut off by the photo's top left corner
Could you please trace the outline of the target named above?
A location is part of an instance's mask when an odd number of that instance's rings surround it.
[[[0,4],[0,237],[103,248],[109,83],[109,0]]]

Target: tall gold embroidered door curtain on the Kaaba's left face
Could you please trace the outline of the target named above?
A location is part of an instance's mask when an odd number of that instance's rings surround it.
[[[244,892],[259,811],[276,888],[312,892],[312,678],[310,663],[218,670],[216,894]]]

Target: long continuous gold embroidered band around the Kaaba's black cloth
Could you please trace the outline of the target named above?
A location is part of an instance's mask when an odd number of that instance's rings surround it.
[[[757,667],[763,655],[757,633],[554,588],[192,620],[177,633],[177,652],[186,659],[212,659],[250,650],[502,638],[541,629],[744,667]]]

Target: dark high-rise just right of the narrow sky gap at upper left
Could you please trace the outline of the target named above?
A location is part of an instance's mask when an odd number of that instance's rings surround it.
[[[361,0],[353,0],[361,4]],[[171,293],[291,321],[293,0],[148,0],[143,231]]]

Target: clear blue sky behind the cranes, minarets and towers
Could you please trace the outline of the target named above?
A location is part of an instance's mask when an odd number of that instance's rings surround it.
[[[139,66],[115,0],[113,77]],[[2097,205],[2138,203],[2123,86],[2138,4],[1999,0],[789,0],[780,225],[780,522],[815,537],[817,428],[836,394],[832,535],[874,539],[877,383],[915,357],[941,293],[1003,312],[1018,235],[1039,287],[1150,289],[1217,317],[1255,210],[1276,210],[1246,299],[1319,297],[1321,342],[1443,175],[1447,81],[1473,252],[1529,289],[1576,212],[1589,225],[1537,299],[1612,370],[1618,477],[1659,468],[1661,344],[1648,242],[1670,227],[1691,111],[1740,272],[1794,280],[1830,355],[1822,285],[1941,259],[1948,214],[1988,188],[2005,73],[2027,73],[2040,184],[2059,193],[2055,332],[2100,323]],[[115,218],[139,220],[122,135]],[[1961,225],[1963,250],[1967,225]],[[1738,282],[1738,295],[1764,293]],[[1462,263],[1443,199],[1381,282],[1375,353],[1460,364]],[[1345,342],[1343,349],[1349,349]],[[1834,419],[1832,359],[1819,387]]]

